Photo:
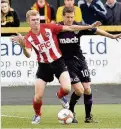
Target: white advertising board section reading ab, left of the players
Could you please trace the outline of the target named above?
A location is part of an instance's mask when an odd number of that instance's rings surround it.
[[[23,55],[18,43],[12,43],[10,37],[1,37],[1,86],[33,85],[38,63],[34,50],[31,58]],[[58,85],[55,79],[49,85]]]

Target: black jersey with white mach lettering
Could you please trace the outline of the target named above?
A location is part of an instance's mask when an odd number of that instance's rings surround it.
[[[59,24],[64,25],[63,22]],[[81,23],[73,22],[73,25],[82,25]],[[90,30],[83,31],[75,31],[75,32],[61,32],[58,35],[59,47],[62,51],[62,55],[64,58],[72,58],[73,56],[77,56],[80,58],[84,58],[82,54],[82,50],[80,47],[80,37],[83,35],[91,35],[96,32],[96,28]]]

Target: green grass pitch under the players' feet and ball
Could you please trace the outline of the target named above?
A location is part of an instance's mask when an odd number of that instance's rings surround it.
[[[62,125],[58,123],[57,113],[61,106],[43,106],[43,115],[39,125],[32,125],[34,114],[32,106],[2,106],[1,114],[28,118],[1,117],[2,128],[121,128],[121,105],[94,105],[94,118],[96,124],[84,123],[84,106],[76,106],[79,124]]]

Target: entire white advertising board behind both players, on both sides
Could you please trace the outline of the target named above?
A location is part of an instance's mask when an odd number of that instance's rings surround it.
[[[121,40],[103,36],[83,36],[81,48],[86,57],[92,83],[121,83]],[[1,86],[33,85],[37,70],[36,55],[26,58],[18,43],[1,37]],[[57,79],[48,83],[58,85]]]

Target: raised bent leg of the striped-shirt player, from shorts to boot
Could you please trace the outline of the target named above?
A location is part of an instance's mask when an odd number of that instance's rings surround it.
[[[66,95],[68,95],[71,91],[71,80],[69,73],[67,71],[67,67],[64,63],[64,60],[60,58],[55,63],[53,63],[53,70],[55,76],[58,78],[61,88],[57,92],[57,97],[59,98],[62,106],[64,108],[69,108],[69,103],[66,99]]]

